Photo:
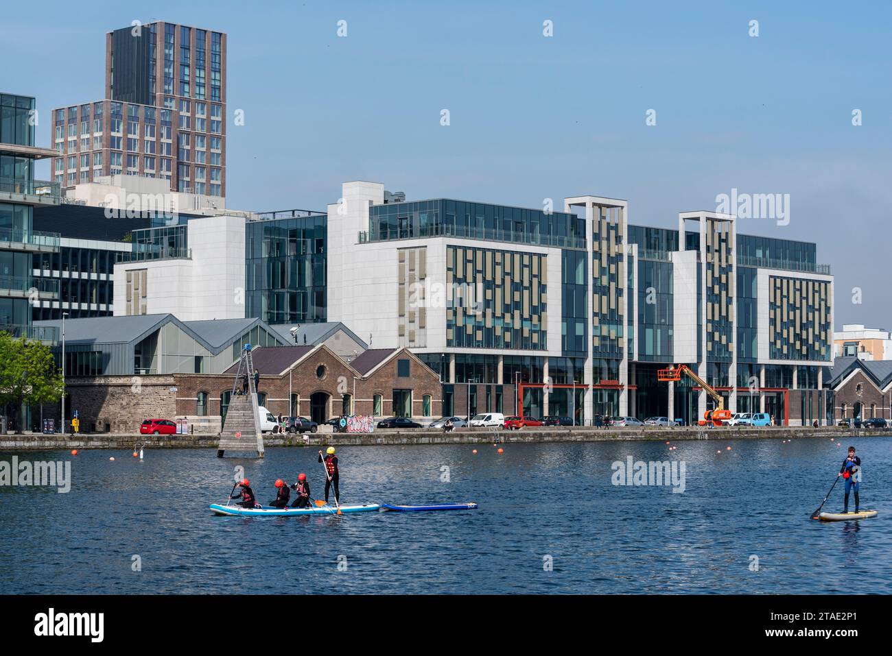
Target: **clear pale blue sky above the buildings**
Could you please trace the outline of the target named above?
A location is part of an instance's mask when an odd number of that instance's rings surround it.
[[[533,208],[593,193],[629,201],[633,224],[674,227],[732,189],[789,194],[788,217],[739,217],[738,232],[816,242],[837,328],[892,330],[892,4],[85,0],[0,12],[0,90],[37,97],[39,145],[51,109],[103,97],[105,32],[137,20],[219,30],[229,208],[325,209],[362,179],[408,200]]]

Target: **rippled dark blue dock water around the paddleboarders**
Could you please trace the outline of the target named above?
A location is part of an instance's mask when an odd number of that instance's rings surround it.
[[[863,507],[879,517],[809,520],[850,443],[863,459]],[[892,592],[890,437],[503,446],[338,449],[344,502],[476,501],[477,511],[263,520],[207,506],[227,496],[239,463],[262,503],[297,471],[317,496],[316,449],[272,448],[263,460],[147,450],[145,462],[20,453],[70,459],[72,489],[0,488],[0,592]],[[686,491],[613,486],[610,465],[628,455],[685,461]],[[825,510],[841,508],[841,488]]]

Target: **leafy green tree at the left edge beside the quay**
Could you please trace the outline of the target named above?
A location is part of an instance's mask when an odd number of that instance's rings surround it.
[[[0,406],[38,406],[62,398],[62,371],[53,352],[39,341],[0,332]],[[22,422],[16,431],[21,433]]]

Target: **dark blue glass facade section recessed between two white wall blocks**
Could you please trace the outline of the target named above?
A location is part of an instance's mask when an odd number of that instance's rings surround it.
[[[326,321],[327,219],[248,222],[245,316],[268,324]]]

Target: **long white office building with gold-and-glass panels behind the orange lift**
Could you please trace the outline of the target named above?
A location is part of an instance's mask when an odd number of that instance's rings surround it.
[[[714,212],[630,225],[626,201],[599,196],[546,212],[392,202],[368,182],[341,195],[326,217],[327,319],[412,348],[441,377],[442,414],[696,422],[705,390],[657,380],[683,363],[731,410],[830,421],[832,277],[814,243],[738,234]],[[251,251],[255,279],[267,251]]]

